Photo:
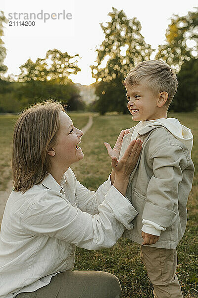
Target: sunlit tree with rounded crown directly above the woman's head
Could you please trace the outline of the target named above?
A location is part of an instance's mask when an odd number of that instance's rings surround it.
[[[71,98],[79,95],[79,90],[69,78],[77,74],[79,55],[70,56],[57,49],[49,50],[46,57],[37,58],[34,63],[29,59],[21,67],[18,83],[18,99],[23,107],[31,103],[53,98],[67,104]]]

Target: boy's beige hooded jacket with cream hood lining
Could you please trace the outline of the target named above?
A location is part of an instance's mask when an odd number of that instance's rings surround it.
[[[132,221],[133,230],[123,236],[142,244],[144,220],[161,227],[159,241],[152,247],[176,248],[186,228],[186,204],[194,175],[191,130],[174,118],[141,122],[124,137],[120,157],[135,130],[143,146],[126,195],[139,214]]]

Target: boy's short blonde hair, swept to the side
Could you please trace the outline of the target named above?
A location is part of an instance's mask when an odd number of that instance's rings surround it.
[[[139,85],[142,81],[154,93],[168,93],[165,107],[169,107],[177,91],[177,76],[171,67],[162,60],[150,60],[138,63],[126,76],[124,86]]]

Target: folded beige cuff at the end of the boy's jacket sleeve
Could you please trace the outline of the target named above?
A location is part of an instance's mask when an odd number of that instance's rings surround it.
[[[163,214],[163,216],[161,216]],[[153,205],[150,202],[146,202],[145,208],[143,210],[142,219],[154,222],[164,228],[172,225],[176,219],[177,215],[174,211]]]

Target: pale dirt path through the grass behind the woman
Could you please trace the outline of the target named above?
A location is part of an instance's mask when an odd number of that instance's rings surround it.
[[[93,117],[92,116],[89,116],[89,121],[88,123],[86,124],[86,126],[84,126],[82,128],[82,131],[84,132],[84,134],[87,133],[87,131],[92,127],[92,124],[93,124]],[[7,188],[5,191],[0,191],[0,223],[1,223],[1,220],[2,220],[2,217],[3,217],[3,212],[4,212],[4,209],[5,209],[5,204],[7,202],[7,199],[10,195],[12,191],[12,181],[8,181],[7,183]]]

